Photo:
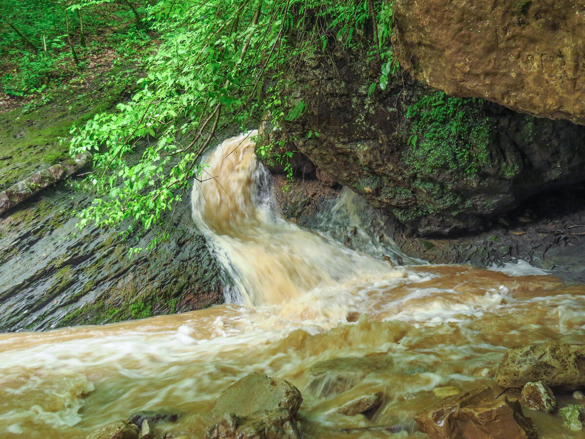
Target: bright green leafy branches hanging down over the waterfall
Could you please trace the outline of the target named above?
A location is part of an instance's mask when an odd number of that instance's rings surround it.
[[[80,227],[163,224],[201,173],[199,159],[217,132],[257,127],[266,114],[276,125],[300,117],[305,103],[280,94],[295,66],[330,46],[355,47],[355,31],[369,19],[367,2],[353,0],[161,0],[147,14],[162,42],[139,91],[71,132],[71,154],[94,154],[85,184],[97,198]],[[381,30],[384,40],[389,29]],[[259,155],[280,146],[259,146]],[[130,158],[136,153],[139,160]],[[280,163],[292,177],[288,154]]]

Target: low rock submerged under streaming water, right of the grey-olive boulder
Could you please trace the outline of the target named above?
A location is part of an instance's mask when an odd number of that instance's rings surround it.
[[[339,395],[389,364],[390,357],[342,357],[316,362],[307,369],[307,392],[316,397]]]

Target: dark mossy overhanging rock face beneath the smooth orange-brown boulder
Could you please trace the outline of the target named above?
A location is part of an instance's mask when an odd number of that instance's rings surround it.
[[[528,196],[585,178],[583,126],[454,98],[404,71],[374,89],[380,67],[360,49],[300,70],[286,93],[304,113],[292,108],[267,137],[425,236],[484,229]]]

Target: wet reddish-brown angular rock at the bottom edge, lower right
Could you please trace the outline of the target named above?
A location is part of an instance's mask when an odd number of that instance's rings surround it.
[[[415,417],[431,439],[536,439],[531,421],[517,401],[494,398],[491,388],[453,395]]]

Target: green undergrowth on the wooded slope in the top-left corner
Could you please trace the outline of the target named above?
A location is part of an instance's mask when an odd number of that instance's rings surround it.
[[[46,93],[51,82],[72,68],[82,70],[87,57],[107,46],[101,37],[105,28],[115,27],[118,36],[128,33],[125,44],[117,46],[129,56],[137,39],[132,39],[135,27],[125,27],[127,11],[123,2],[112,0],[3,0],[0,57],[8,68],[0,73],[2,91],[15,97]]]

